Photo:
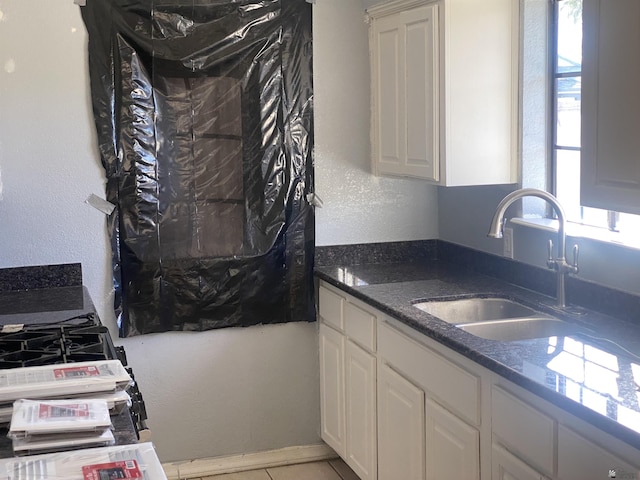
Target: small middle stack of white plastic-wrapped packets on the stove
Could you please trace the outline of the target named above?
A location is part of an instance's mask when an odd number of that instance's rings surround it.
[[[105,400],[16,400],[8,437],[20,454],[113,445]]]

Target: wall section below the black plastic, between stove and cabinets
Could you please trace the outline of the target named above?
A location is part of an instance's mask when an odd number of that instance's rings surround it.
[[[163,461],[320,443],[315,323],[122,340]]]

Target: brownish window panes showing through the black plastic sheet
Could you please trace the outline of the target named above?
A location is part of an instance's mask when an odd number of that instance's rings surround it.
[[[159,201],[160,255],[259,254],[244,242],[241,80],[156,74],[153,88],[163,112],[156,128],[174,132],[157,148],[160,188],[166,192]]]

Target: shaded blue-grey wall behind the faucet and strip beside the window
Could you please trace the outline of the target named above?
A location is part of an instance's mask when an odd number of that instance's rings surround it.
[[[367,0],[365,0],[367,1]],[[368,0],[372,1],[372,0]],[[549,62],[548,22],[550,3],[546,0],[526,0],[523,39],[523,92],[521,108],[522,181],[523,186],[545,189],[547,184],[549,115],[548,82],[544,72]],[[501,255],[502,241],[486,237],[491,218],[500,200],[515,186],[461,187],[439,192],[439,235],[443,240]],[[537,198],[525,199],[527,215],[544,215],[546,203]],[[512,209],[515,210],[515,209]],[[514,227],[515,259],[546,268],[547,242],[557,235],[540,229]],[[580,248],[580,271],[577,277],[599,285],[640,295],[640,250],[600,242],[588,238],[568,237],[567,253],[572,259],[572,247]]]

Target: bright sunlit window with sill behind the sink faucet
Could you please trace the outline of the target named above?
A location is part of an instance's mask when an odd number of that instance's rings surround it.
[[[637,241],[640,216],[580,205],[582,0],[553,3],[553,189],[570,222],[619,231]]]

